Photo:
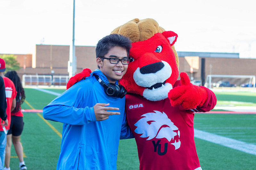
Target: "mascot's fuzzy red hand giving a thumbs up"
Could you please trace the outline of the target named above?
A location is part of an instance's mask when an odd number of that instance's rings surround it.
[[[202,107],[208,98],[206,89],[192,85],[186,72],[180,73],[180,81],[181,85],[174,87],[168,93],[171,105],[174,107],[181,105],[186,110]]]

